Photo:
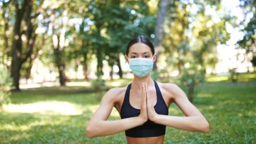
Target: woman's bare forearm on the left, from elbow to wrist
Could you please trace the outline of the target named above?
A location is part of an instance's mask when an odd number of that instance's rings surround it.
[[[127,129],[138,127],[143,123],[143,120],[139,117],[124,118],[115,121],[97,120],[89,122],[88,127],[86,128],[86,134],[88,137],[112,135]]]

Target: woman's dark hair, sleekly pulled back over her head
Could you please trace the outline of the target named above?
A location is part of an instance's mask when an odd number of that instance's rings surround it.
[[[144,37],[143,35],[139,35],[137,38],[133,38],[127,45],[126,47],[126,55],[128,56],[128,53],[129,53],[129,49],[130,47],[133,45],[133,44],[136,44],[136,43],[143,43],[143,44],[146,44],[150,47],[151,49],[151,52],[153,53],[153,55],[155,54],[155,49],[154,49],[154,45],[152,44],[152,42]]]

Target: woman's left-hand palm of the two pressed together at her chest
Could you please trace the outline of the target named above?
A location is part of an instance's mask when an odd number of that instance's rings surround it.
[[[147,112],[147,92],[145,88],[145,83],[141,85],[141,113],[139,117],[142,119],[143,123],[148,121],[148,112]]]

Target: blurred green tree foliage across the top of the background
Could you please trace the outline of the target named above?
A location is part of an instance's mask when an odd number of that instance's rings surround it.
[[[242,29],[245,37],[237,43],[252,51],[255,47],[255,0],[240,2],[247,19],[250,19]],[[92,71],[90,61],[94,56],[97,58],[97,72],[94,72],[98,77],[104,73],[102,61],[107,61],[110,69],[118,65],[121,72],[119,56],[120,53],[125,54],[126,44],[131,38],[142,34],[152,41],[156,39],[154,29],[160,3],[159,0],[0,1],[0,56],[3,57],[0,63],[9,67],[13,60],[11,53],[14,53],[11,47],[21,54],[17,54],[19,58],[13,62],[19,63],[22,59],[23,63],[13,67],[19,68],[13,70],[14,73],[19,72],[15,73],[15,86],[19,85],[20,73],[21,78],[26,76],[29,73],[26,68],[32,67],[31,59],[37,56],[44,65],[52,65],[51,70],[57,71],[59,67],[62,78],[65,77],[64,68],[72,67],[76,71],[79,64],[83,65],[84,74],[89,74]],[[211,14],[207,13],[208,10]],[[15,26],[18,20],[21,20],[20,24]],[[221,1],[170,1],[162,39],[163,55],[173,60],[167,63],[168,69],[178,69],[181,75],[190,57],[194,57],[202,69],[214,68],[218,60],[216,46],[229,40],[226,26],[235,26],[236,20],[223,9]],[[240,27],[244,24],[240,23]],[[16,28],[19,31],[15,34]],[[19,36],[18,41],[13,39],[15,35]],[[57,63],[55,66],[54,62]],[[122,73],[119,74],[121,77]],[[152,76],[154,79],[159,77],[154,72]],[[89,79],[89,76],[85,77]]]

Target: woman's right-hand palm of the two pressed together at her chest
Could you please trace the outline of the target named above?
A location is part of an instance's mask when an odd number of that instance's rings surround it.
[[[156,116],[158,116],[158,113],[155,112],[153,100],[150,96],[148,85],[146,83],[146,95],[147,95],[147,112],[148,112],[148,119],[152,122],[155,121]]]

